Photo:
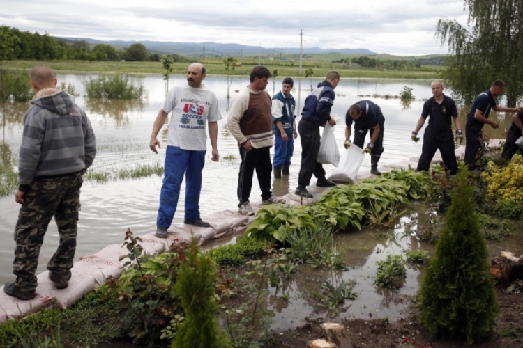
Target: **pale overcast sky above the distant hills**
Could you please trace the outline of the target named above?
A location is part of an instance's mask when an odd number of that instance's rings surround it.
[[[440,17],[464,24],[462,0],[1,0],[0,25],[98,40],[365,48],[401,56],[446,54]]]

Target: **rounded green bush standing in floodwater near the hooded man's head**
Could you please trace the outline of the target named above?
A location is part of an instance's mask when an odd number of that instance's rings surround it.
[[[84,81],[86,96],[104,99],[142,99],[146,90],[141,82],[126,74],[101,76]]]

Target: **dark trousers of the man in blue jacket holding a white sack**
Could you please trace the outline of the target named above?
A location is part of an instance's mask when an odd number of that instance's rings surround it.
[[[301,140],[301,166],[298,174],[298,186],[307,187],[312,174],[317,179],[325,179],[325,169],[318,163],[319,152],[319,125],[302,118],[298,123],[298,132]]]

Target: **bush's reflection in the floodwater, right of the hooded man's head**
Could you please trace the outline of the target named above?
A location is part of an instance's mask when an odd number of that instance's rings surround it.
[[[97,99],[86,98],[84,110],[88,113],[96,113],[103,118],[116,121],[116,126],[121,127],[129,124],[129,113],[142,113],[147,107],[147,102],[141,99],[119,100],[119,99]]]

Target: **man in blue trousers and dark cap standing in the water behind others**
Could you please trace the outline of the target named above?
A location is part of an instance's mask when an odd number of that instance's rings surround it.
[[[291,157],[294,152],[294,139],[298,137],[294,119],[296,101],[291,95],[294,81],[290,77],[283,79],[282,90],[273,97],[273,123],[274,123],[274,177],[281,179],[289,175]]]

